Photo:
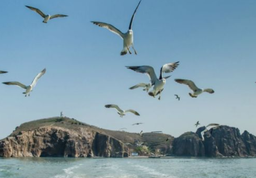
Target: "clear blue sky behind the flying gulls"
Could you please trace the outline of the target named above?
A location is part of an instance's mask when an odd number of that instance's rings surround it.
[[[90,21],[123,32],[139,0],[1,0],[0,82],[30,84],[46,67],[30,97],[0,84],[0,139],[16,126],[65,116],[101,128],[163,131],[175,137],[194,124],[219,123],[256,135],[256,1],[142,0],[133,21],[138,55],[120,56],[121,38]],[[46,14],[66,14],[47,24],[25,5]],[[146,75],[126,65],[151,65],[157,76],[165,63],[180,61],[167,79],[161,101],[142,89],[129,90]],[[166,74],[165,74],[166,75]],[[167,74],[168,75],[168,74]],[[189,97],[174,78],[191,79],[214,94]],[[180,101],[175,100],[178,94]],[[105,104],[134,109],[120,118]],[[136,122],[143,125],[131,126]]]

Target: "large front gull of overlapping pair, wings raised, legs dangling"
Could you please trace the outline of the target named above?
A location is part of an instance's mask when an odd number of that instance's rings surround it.
[[[165,84],[165,81],[167,78],[170,77],[170,76],[162,77],[162,74],[172,72],[178,65],[179,65],[179,61],[174,63],[164,64],[161,67],[159,78],[156,77],[154,68],[151,66],[143,65],[143,66],[126,66],[126,67],[136,72],[146,73],[150,78],[151,85],[152,86],[154,85],[153,90],[149,92],[148,95],[155,98],[155,96],[159,94],[158,100],[160,100],[160,95],[161,95],[161,92],[163,91],[163,86]]]

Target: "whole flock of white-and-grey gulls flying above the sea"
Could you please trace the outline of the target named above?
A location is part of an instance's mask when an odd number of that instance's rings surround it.
[[[93,24],[98,25],[98,26],[103,27],[103,28],[106,28],[106,29],[110,30],[111,32],[119,35],[123,39],[123,49],[122,49],[120,55],[125,55],[125,54],[127,54],[127,52],[129,52],[129,54],[132,54],[132,52],[130,51],[130,47],[133,48],[134,53],[137,55],[137,51],[134,49],[134,46],[133,46],[132,22],[134,20],[135,13],[136,13],[140,3],[141,3],[141,0],[139,1],[135,11],[133,12],[133,15],[132,15],[132,18],[131,18],[130,24],[129,24],[129,29],[126,33],[121,32],[119,29],[117,29],[115,26],[113,26],[111,24],[104,23],[104,22],[98,22],[98,21],[91,21]],[[50,19],[53,19],[53,18],[67,17],[68,16],[68,15],[62,15],[62,14],[45,15],[41,10],[39,10],[37,8],[31,7],[31,6],[26,6],[26,7],[31,9],[32,11],[35,11],[36,13],[38,13],[43,18],[43,21],[42,21],[43,23],[47,23]],[[159,95],[158,100],[160,100],[161,99],[161,92],[164,89],[166,79],[170,77],[170,75],[169,76],[163,76],[163,73],[173,72],[178,67],[178,65],[179,65],[179,61],[164,64],[160,69],[159,77],[156,76],[155,70],[151,66],[148,66],[148,65],[126,66],[126,68],[131,69],[133,71],[147,74],[149,76],[149,79],[150,79],[150,83],[138,83],[138,84],[130,87],[129,89],[133,90],[135,88],[142,87],[143,91],[146,91],[148,93],[148,95],[150,95],[154,98]],[[39,72],[36,75],[36,77],[33,79],[32,83],[30,85],[24,85],[24,84],[22,84],[21,82],[18,82],[18,81],[3,82],[3,84],[16,85],[18,87],[21,87],[21,88],[25,89],[25,92],[23,92],[23,94],[25,94],[25,97],[30,96],[30,92],[33,91],[33,88],[35,87],[37,81],[39,80],[40,77],[42,77],[44,75],[45,72],[46,72],[46,69],[44,68],[41,72]],[[0,74],[3,74],[3,73],[7,73],[7,71],[0,71]],[[203,92],[208,92],[210,94],[214,93],[214,90],[211,89],[211,88],[207,88],[207,89],[198,88],[196,86],[196,84],[191,80],[187,80],[187,79],[174,79],[174,80],[178,83],[187,85],[193,91],[193,93],[189,93],[189,96],[192,97],[192,98],[197,98],[198,95],[202,94]],[[153,87],[153,89],[151,91],[149,91],[151,87]],[[178,95],[175,95],[175,97],[178,101],[180,100],[180,97]],[[120,117],[125,116],[125,114],[128,113],[128,112],[133,113],[134,115],[140,116],[140,114],[137,111],[134,111],[132,109],[122,110],[117,105],[110,104],[110,105],[105,105],[105,107],[116,109],[117,113],[120,115]],[[139,125],[139,124],[143,124],[143,123],[135,123],[133,125]],[[195,125],[196,125],[196,127],[198,125],[200,125],[199,121]],[[206,127],[206,129],[201,133],[203,140],[204,140],[204,133],[206,131],[210,130],[211,128],[215,128],[215,127],[219,127],[219,126],[220,126],[219,124],[209,124]],[[126,129],[126,128],[122,128],[122,130],[123,129]],[[142,131],[139,134],[142,136]]]

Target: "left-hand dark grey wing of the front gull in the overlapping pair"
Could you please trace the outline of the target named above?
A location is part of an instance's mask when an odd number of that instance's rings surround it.
[[[151,85],[154,85],[155,82],[157,81],[155,70],[151,66],[142,65],[142,66],[126,66],[126,67],[129,68],[129,69],[132,69],[136,72],[146,73],[150,78]]]

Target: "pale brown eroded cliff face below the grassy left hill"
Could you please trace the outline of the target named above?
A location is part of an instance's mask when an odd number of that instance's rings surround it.
[[[79,132],[61,127],[20,131],[0,142],[0,157],[104,157],[129,156],[120,141],[81,128]]]

